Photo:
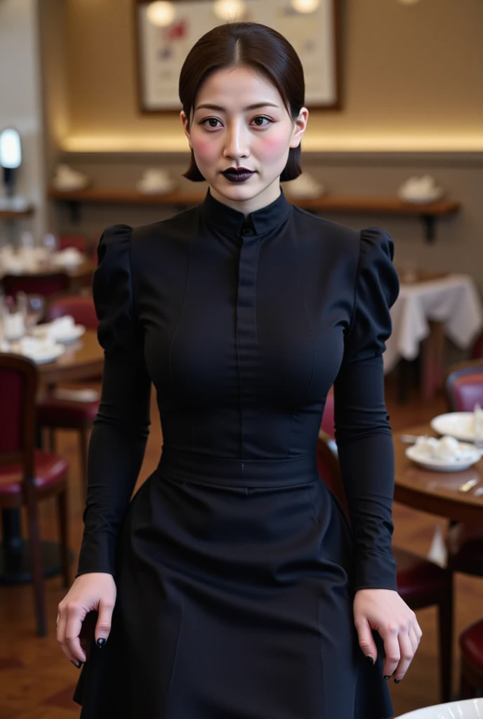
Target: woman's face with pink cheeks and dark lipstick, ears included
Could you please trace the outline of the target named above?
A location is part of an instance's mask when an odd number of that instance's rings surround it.
[[[305,107],[295,121],[277,89],[252,68],[216,70],[181,120],[196,165],[217,200],[244,214],[275,201],[290,147],[307,125]],[[244,168],[249,173],[226,173]]]

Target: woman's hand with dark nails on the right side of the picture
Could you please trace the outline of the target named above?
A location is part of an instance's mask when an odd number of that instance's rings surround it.
[[[360,589],[354,597],[354,623],[359,646],[365,656],[377,659],[372,630],[380,633],[385,649],[383,674],[394,674],[398,684],[415,655],[423,632],[412,609],[397,592],[388,589]]]

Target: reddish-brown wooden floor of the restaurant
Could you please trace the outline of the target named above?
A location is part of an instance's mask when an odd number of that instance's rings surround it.
[[[387,386],[387,406],[393,429],[427,421],[444,411],[442,397],[423,402],[413,390],[405,406],[395,402],[395,388]],[[151,472],[160,454],[161,430],[153,403],[152,431],[140,481]],[[82,531],[82,492],[78,472],[77,438],[70,432],[59,433],[58,451],[70,462],[70,544],[77,549]],[[395,544],[425,555],[433,532],[441,520],[395,505]],[[55,539],[53,505],[42,511],[42,533]],[[64,595],[60,579],[46,582],[48,636],[37,638],[32,613],[32,591],[29,585],[0,587],[0,719],[73,719],[78,717],[72,702],[78,670],[58,649],[55,641],[57,603]],[[471,621],[483,615],[483,580],[458,577],[456,580],[456,636]],[[401,684],[390,684],[396,715],[437,703],[438,664],[436,646],[436,613],[426,609],[418,613],[423,639],[412,667]],[[456,643],[455,643],[456,644]],[[454,664],[454,688],[457,680],[457,651]],[[110,718],[106,718],[110,719]],[[180,719],[191,719],[180,717]],[[349,718],[348,718],[349,719]]]

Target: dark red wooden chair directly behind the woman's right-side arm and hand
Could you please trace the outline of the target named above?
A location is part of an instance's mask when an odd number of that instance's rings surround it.
[[[322,480],[347,511],[339,460],[330,447],[330,438],[321,431],[317,441],[317,467]],[[348,513],[349,514],[349,513]],[[453,582],[447,569],[398,547],[392,548],[397,566],[399,594],[411,609],[438,607],[441,700],[451,697],[453,637]]]

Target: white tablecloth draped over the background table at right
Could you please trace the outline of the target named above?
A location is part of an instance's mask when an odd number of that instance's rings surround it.
[[[447,275],[438,280],[401,284],[391,309],[392,335],[386,343],[385,372],[397,361],[415,359],[430,332],[429,321],[444,323],[444,332],[460,349],[466,349],[483,328],[483,308],[470,275]]]

